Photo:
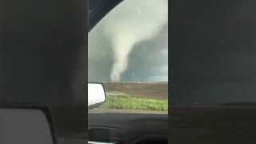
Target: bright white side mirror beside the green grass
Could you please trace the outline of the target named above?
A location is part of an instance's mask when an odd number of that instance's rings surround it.
[[[106,101],[106,93],[102,83],[88,83],[88,107],[102,105]]]

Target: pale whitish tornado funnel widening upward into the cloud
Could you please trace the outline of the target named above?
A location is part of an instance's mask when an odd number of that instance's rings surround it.
[[[154,38],[161,27],[166,25],[167,2],[167,0],[126,0],[104,19],[104,34],[109,38],[114,51],[111,82],[121,81],[134,45]]]

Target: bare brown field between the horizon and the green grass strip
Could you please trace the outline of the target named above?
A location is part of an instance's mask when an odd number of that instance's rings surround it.
[[[153,98],[167,99],[168,98],[168,83],[123,83],[112,82],[104,83],[106,93],[129,94],[135,98]]]

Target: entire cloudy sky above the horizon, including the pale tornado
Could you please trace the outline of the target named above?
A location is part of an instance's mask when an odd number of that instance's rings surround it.
[[[126,0],[107,14],[89,34],[89,81],[167,82],[167,11],[166,0]]]

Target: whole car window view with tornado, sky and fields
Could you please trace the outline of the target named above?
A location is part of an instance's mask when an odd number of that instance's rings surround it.
[[[93,30],[89,82],[102,82],[100,112],[168,114],[168,1],[125,0]]]

